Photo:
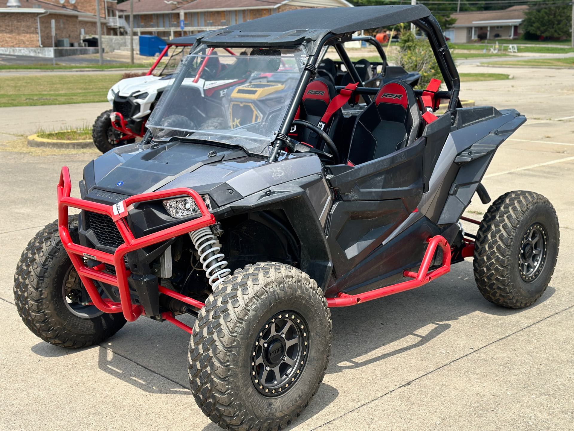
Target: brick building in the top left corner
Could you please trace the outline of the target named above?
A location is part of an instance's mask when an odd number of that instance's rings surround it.
[[[99,1],[102,34],[117,34],[116,0]],[[0,48],[52,47],[52,20],[56,46],[79,46],[82,35],[98,33],[96,0],[8,0],[5,5],[0,7]]]

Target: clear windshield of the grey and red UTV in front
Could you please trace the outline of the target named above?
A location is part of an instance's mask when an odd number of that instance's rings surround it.
[[[201,45],[181,61],[146,125],[156,140],[192,137],[267,154],[305,59],[300,49]]]

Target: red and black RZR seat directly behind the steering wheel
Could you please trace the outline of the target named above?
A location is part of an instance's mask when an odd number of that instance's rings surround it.
[[[295,116],[296,120],[311,122],[321,130],[324,130],[333,141],[336,141],[335,136],[343,121],[343,111],[339,107],[339,109],[335,109],[329,114],[327,113],[329,106],[333,107],[331,102],[336,95],[335,86],[330,80],[326,78],[313,79],[307,84],[301,105]],[[303,144],[325,151],[323,140],[317,133],[312,132],[308,128],[293,125],[289,136]],[[321,141],[321,144],[319,144],[319,141]],[[326,152],[329,152],[328,149]]]

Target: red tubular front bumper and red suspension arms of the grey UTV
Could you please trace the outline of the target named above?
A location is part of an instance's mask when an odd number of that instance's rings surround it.
[[[134,305],[131,303],[130,290],[127,284],[129,271],[126,270],[123,256],[125,256],[126,253],[132,252],[136,249],[148,247],[148,245],[152,244],[161,243],[161,241],[168,240],[169,238],[180,236],[191,232],[192,230],[204,228],[205,226],[211,226],[215,223],[215,217],[209,212],[207,206],[205,206],[205,203],[203,202],[203,199],[201,199],[199,194],[197,194],[197,192],[191,188],[180,187],[165,191],[142,193],[139,195],[131,196],[121,202],[115,203],[114,205],[104,205],[103,203],[71,198],[71,188],[72,183],[70,181],[69,170],[64,166],[60,174],[60,183],[58,184],[58,230],[60,232],[62,244],[64,245],[65,250],[68,252],[69,257],[72,260],[72,264],[74,268],[76,268],[77,274],[80,276],[80,279],[86,287],[88,295],[90,295],[94,305],[104,313],[123,312],[126,320],[130,322],[136,320],[139,315],[143,313],[144,309],[139,305]],[[127,210],[130,205],[137,202],[154,201],[156,199],[172,198],[181,195],[187,195],[193,198],[201,212],[200,218],[184,222],[177,226],[172,226],[171,228],[162,229],[159,232],[150,233],[149,235],[140,238],[134,237],[126,221]],[[104,214],[110,217],[117,226],[119,233],[122,235],[124,244],[120,245],[113,255],[110,253],[98,251],[94,248],[75,244],[72,241],[68,230],[69,207],[91,211],[92,213]],[[87,257],[88,259],[96,260],[104,264],[107,263],[114,265],[116,275],[111,275],[103,272],[103,264],[100,264],[94,268],[87,267],[84,265],[83,257]],[[110,299],[102,298],[98,292],[98,289],[94,285],[94,280],[111,284],[112,286],[117,286],[121,302],[113,302]],[[201,308],[205,305],[203,302],[186,297],[162,286],[158,286],[158,290],[162,294],[179,299],[180,301],[188,303],[189,305],[192,305],[196,308]],[[176,321],[171,313],[163,313],[162,317],[172,323],[177,322],[177,326],[191,333],[191,328],[179,321]]]

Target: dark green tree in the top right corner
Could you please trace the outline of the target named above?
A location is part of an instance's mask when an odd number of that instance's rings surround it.
[[[537,38],[570,36],[572,6],[556,1],[537,1],[525,12],[524,32]]]

